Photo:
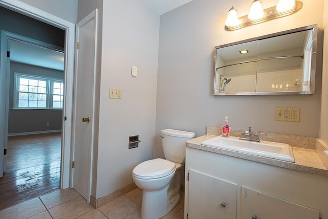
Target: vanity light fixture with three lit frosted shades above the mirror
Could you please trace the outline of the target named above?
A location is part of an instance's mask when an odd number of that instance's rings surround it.
[[[299,11],[302,5],[301,1],[279,0],[277,6],[263,10],[260,0],[254,0],[250,13],[242,17],[237,16],[237,10],[232,6],[229,10],[224,29],[227,31],[238,30],[240,28],[288,16]]]

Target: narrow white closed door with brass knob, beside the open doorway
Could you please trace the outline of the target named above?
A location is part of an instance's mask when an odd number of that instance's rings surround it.
[[[96,75],[97,9],[76,25],[72,187],[91,194]]]

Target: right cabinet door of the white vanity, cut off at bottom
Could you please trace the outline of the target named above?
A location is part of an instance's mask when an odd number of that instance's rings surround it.
[[[242,219],[318,219],[319,211],[241,187]]]

